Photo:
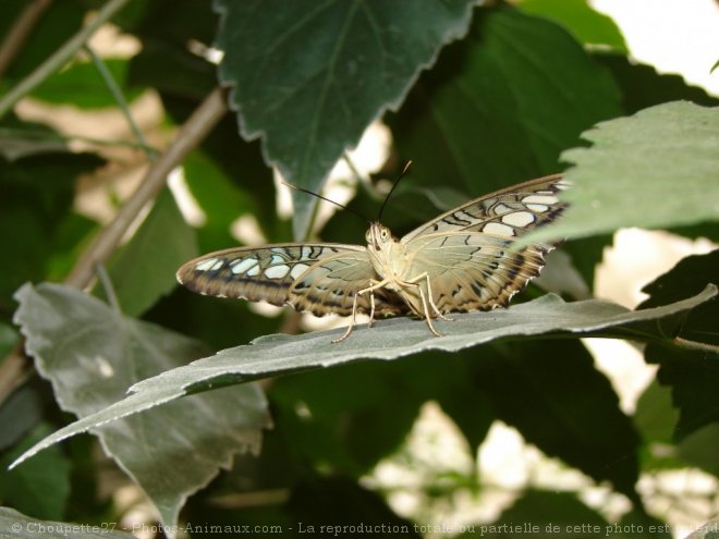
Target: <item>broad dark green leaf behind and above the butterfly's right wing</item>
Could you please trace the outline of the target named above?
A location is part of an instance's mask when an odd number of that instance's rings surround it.
[[[477,15],[388,117],[413,184],[472,196],[557,172],[583,130],[621,113],[611,76],[564,28],[511,9]]]

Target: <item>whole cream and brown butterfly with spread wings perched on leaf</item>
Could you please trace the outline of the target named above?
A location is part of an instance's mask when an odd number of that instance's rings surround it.
[[[178,281],[199,294],[290,305],[316,316],[415,315],[429,331],[446,315],[507,306],[537,277],[553,248],[515,240],[559,217],[560,174],[470,200],[397,238],[379,222],[366,246],[289,243],[219,250],[184,264]]]

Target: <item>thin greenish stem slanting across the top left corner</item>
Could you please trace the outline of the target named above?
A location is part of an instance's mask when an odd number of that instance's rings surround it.
[[[4,117],[13,106],[27,94],[33,91],[52,73],[60,70],[80,50],[89,37],[107,21],[120,11],[130,0],[109,0],[97,16],[84,28],[77,32],[70,40],[60,47],[54,54],[42,62],[33,73],[27,75],[2,99],[0,99],[0,118]]]

